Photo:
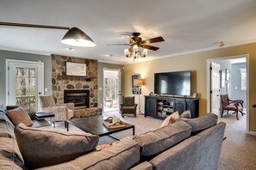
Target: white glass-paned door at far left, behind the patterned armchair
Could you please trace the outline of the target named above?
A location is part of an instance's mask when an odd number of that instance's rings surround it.
[[[6,105],[22,106],[27,112],[40,112],[44,64],[7,59],[6,66]]]

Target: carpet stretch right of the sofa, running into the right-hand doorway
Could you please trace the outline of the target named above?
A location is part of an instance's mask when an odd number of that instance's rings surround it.
[[[224,115],[220,121],[227,123],[225,137],[222,143],[220,170],[255,170],[256,169],[256,136],[246,133],[246,116],[234,114]]]

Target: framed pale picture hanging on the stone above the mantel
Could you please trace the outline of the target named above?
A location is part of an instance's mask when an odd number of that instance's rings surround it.
[[[66,62],[66,76],[86,76],[86,64]]]

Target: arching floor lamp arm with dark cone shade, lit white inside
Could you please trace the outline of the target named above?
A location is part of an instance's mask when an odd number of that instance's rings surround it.
[[[47,25],[35,25],[35,24],[24,24],[24,23],[11,23],[11,22],[0,22],[1,26],[13,26],[13,27],[40,27],[49,29],[66,29],[68,30],[61,42],[70,46],[84,46],[91,47],[95,46],[94,41],[78,27],[59,27],[59,26],[47,26]]]

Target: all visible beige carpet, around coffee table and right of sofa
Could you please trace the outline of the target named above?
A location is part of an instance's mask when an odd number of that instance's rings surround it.
[[[106,112],[105,117],[116,115],[122,118],[118,112]],[[225,137],[222,144],[222,154],[219,170],[256,170],[256,136],[246,134],[246,116],[240,116],[236,120],[234,114],[228,114],[219,118],[219,121],[227,123]],[[159,128],[163,120],[158,118],[138,115],[136,118],[132,115],[122,118],[123,121],[135,125],[135,134],[151,131]],[[64,130],[64,124],[57,123],[56,129]],[[80,131],[78,128],[70,125],[70,131]],[[115,134],[116,137],[132,136],[132,131],[122,131]],[[111,137],[101,137],[99,144],[114,143],[116,140]],[[210,147],[210,146],[209,146]],[[207,168],[206,168],[207,169]]]

